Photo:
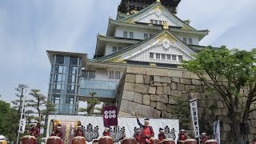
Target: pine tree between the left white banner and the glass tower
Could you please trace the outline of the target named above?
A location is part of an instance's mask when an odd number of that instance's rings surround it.
[[[55,110],[54,104],[51,102],[47,102],[46,96],[40,94],[40,90],[31,90],[30,96],[32,96],[32,98],[27,100],[26,106],[32,107],[36,110],[38,117],[35,118],[37,118],[38,123],[40,124],[47,114],[50,114],[50,112],[53,112]],[[30,114],[34,113],[34,111],[31,110],[27,112]]]

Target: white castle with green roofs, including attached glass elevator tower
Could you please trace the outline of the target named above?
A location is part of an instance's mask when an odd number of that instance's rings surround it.
[[[106,35],[97,35],[93,59],[86,54],[47,50],[50,59],[48,101],[56,114],[77,114],[90,92],[115,102],[126,66],[178,68],[204,46],[209,30],[196,30],[176,16],[181,0],[122,0]]]

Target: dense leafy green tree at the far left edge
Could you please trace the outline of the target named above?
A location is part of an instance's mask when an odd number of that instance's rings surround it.
[[[18,130],[19,117],[17,111],[10,107],[10,103],[0,100],[0,131],[10,143],[17,138],[17,133],[14,133]]]

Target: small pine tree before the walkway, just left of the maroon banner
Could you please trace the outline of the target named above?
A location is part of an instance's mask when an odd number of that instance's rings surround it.
[[[87,102],[87,108],[80,108],[80,112],[86,112],[86,114],[102,114],[102,109],[95,106],[100,104],[98,101],[98,98],[94,98],[94,95],[96,92],[90,92],[91,98],[86,101]],[[100,111],[100,113],[94,113],[94,109]]]

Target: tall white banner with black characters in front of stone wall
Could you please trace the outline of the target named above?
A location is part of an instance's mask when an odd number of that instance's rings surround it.
[[[200,133],[199,133],[199,122],[198,122],[198,103],[197,99],[191,99],[190,100],[190,111],[191,111],[191,117],[192,117],[192,122],[194,126],[194,137],[199,138]]]

